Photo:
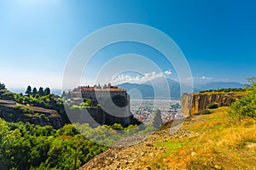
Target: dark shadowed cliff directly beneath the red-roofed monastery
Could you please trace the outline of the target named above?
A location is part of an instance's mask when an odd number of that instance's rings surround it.
[[[121,124],[122,127],[129,125],[139,125],[141,122],[132,115],[130,111],[130,97],[120,95],[114,96],[112,99],[102,98],[97,101],[101,106],[87,109],[70,109],[65,107],[70,122],[89,123],[90,127],[98,127],[101,125]]]

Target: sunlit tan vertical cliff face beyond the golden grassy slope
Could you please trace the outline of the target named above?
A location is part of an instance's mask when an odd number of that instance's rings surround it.
[[[235,93],[206,93],[206,94],[183,94],[181,106],[185,117],[201,114],[212,103],[219,106],[228,106],[236,99],[240,99],[245,94]]]

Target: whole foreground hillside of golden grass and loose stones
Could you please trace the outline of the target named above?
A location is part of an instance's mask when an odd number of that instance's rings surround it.
[[[229,110],[189,117],[175,133],[169,122],[140,144],[108,149],[81,169],[253,169],[256,121],[239,125]]]

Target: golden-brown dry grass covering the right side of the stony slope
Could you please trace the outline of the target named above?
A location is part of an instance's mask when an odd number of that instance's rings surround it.
[[[222,107],[211,115],[192,117],[183,128],[195,135],[181,139],[189,142],[166,157],[169,169],[256,168],[255,121],[245,119],[240,126],[229,116],[229,108]]]

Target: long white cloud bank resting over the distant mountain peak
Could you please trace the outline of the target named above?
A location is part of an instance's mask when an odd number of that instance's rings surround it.
[[[167,73],[169,72],[170,71],[167,71]],[[156,71],[146,72],[146,73],[143,73],[143,75],[137,74],[136,76],[131,76],[128,74],[119,74],[116,77],[112,77],[111,82],[113,84],[120,84],[124,82],[143,83],[143,82],[148,82],[148,81],[154,80],[155,78],[161,78],[161,77],[165,78],[166,76],[163,72],[156,72]]]

